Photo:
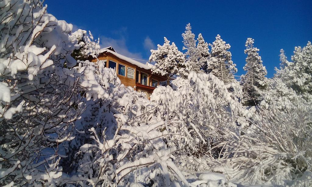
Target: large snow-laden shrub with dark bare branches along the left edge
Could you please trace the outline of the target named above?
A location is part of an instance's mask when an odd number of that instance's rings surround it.
[[[85,108],[79,75],[64,68],[79,46],[41,1],[1,1],[0,17],[0,184],[56,185]]]

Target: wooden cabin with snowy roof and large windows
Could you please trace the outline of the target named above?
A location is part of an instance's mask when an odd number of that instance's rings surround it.
[[[105,63],[107,68],[115,69],[122,84],[131,86],[138,92],[145,92],[147,98],[159,82],[167,80],[164,76],[152,74],[148,65],[116,53],[111,46],[101,49],[98,59],[91,61],[96,63],[97,60]]]

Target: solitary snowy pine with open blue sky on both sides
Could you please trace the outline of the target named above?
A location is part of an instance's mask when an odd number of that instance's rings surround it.
[[[259,49],[254,47],[254,39],[247,38],[246,50],[247,54],[246,65],[244,70],[246,74],[243,82],[243,99],[246,105],[255,105],[259,103],[261,89],[266,87],[266,67],[263,66]]]

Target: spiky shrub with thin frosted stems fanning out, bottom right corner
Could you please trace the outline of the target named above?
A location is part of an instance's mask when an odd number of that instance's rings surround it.
[[[312,108],[302,103],[261,110],[243,135],[228,140],[225,165],[236,171],[230,177],[252,184],[312,185],[311,116]]]

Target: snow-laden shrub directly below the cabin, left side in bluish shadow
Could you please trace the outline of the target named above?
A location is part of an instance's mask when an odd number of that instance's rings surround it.
[[[86,112],[75,122],[76,138],[64,145],[69,157],[61,164],[68,175],[61,183],[164,186],[176,179],[188,185],[173,164],[176,147],[167,122],[155,115],[157,106],[100,63],[85,61],[77,69]]]

